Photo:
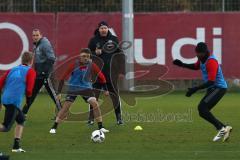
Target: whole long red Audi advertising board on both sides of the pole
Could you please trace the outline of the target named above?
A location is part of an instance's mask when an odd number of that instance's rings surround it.
[[[26,47],[31,50],[33,28],[39,28],[43,35],[48,37],[54,45],[58,60],[64,61],[76,55],[80,48],[87,47],[101,20],[107,21],[121,40],[120,13],[58,13],[56,15],[1,13],[0,70],[6,70],[17,64],[13,62],[17,61],[21,51]],[[205,41],[222,64],[225,77],[240,77],[239,20],[239,13],[135,14],[135,63],[144,64],[146,68],[154,64],[164,65],[168,68],[166,79],[198,78],[199,72],[177,68],[172,65],[172,60],[180,58],[186,63],[195,62],[194,45],[199,41]],[[135,70],[137,69],[136,66]],[[157,69],[154,71],[156,72]]]

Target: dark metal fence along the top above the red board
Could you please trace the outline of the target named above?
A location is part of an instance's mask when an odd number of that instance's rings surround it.
[[[122,0],[0,0],[0,12],[121,12]],[[240,0],[134,0],[135,12],[240,11]]]

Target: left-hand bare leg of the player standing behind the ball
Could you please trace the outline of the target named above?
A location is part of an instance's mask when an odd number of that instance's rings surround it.
[[[52,128],[50,129],[51,134],[56,133],[58,125],[67,117],[69,109],[70,109],[72,103],[75,101],[76,97],[77,96],[71,96],[71,95],[66,96],[66,100],[65,100],[62,108],[58,112],[56,120],[55,120]]]

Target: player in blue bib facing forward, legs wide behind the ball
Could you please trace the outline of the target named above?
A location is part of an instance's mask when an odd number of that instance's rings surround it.
[[[105,95],[108,96],[109,92],[106,87],[106,79],[98,66],[92,63],[90,59],[91,51],[88,48],[82,49],[80,51],[79,64],[73,64],[69,67],[68,71],[63,75],[61,80],[68,79],[68,91],[66,100],[63,104],[62,109],[59,111],[54,125],[52,126],[50,133],[55,134],[59,123],[61,123],[68,115],[69,109],[72,103],[77,98],[77,95],[81,95],[82,98],[93,106],[94,117],[96,117],[96,122],[98,123],[98,128],[102,132],[106,133],[109,130],[103,127],[102,115],[100,107],[96,97],[94,96],[94,91],[92,87],[92,76],[97,75],[100,83],[104,84]],[[63,83],[61,83],[63,85]],[[58,87],[58,93],[62,90],[62,85]],[[58,95],[60,97],[60,95]]]

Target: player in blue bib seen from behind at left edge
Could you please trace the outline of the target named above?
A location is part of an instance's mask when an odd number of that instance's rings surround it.
[[[25,121],[21,110],[21,103],[24,95],[26,95],[27,103],[32,95],[36,78],[36,73],[31,68],[32,63],[33,53],[24,52],[22,55],[22,64],[7,71],[0,78],[1,102],[5,107],[5,116],[3,123],[0,124],[0,132],[10,131],[14,121],[17,122],[12,152],[25,152],[20,147],[20,139]]]

